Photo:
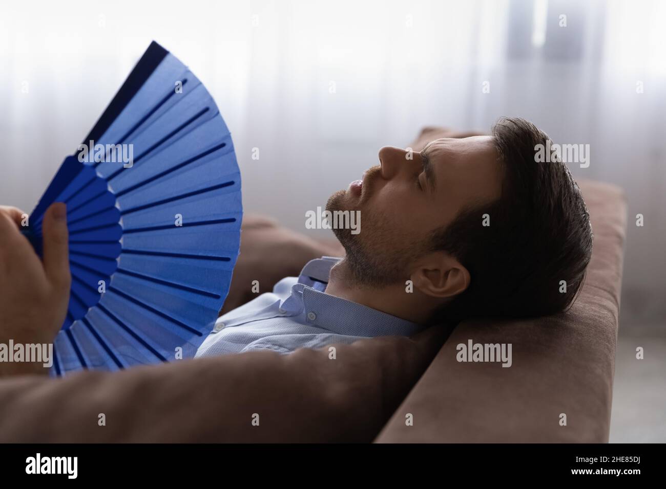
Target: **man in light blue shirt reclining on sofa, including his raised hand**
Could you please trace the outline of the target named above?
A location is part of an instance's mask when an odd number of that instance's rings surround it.
[[[442,138],[420,152],[382,148],[379,166],[328,200],[327,210],[363,217],[362,233],[334,230],[345,257],[311,261],[298,279],[223,315],[196,356],[289,353],[409,336],[442,319],[565,309],[583,281],[592,233],[566,166],[535,162],[535,146],[546,141],[533,124],[503,118],[491,136]],[[45,219],[43,267],[11,222],[21,212],[0,212],[0,343],[50,343],[63,321],[62,211],[56,205]],[[0,363],[5,374],[23,369],[39,370]]]

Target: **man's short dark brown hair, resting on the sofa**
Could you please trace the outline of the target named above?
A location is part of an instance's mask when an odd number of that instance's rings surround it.
[[[535,161],[535,146],[545,146],[547,134],[505,117],[491,135],[503,170],[501,198],[464,210],[432,235],[432,250],[456,257],[472,277],[433,321],[563,311],[585,277],[593,241],[589,213],[564,163]],[[484,214],[490,226],[482,226]]]

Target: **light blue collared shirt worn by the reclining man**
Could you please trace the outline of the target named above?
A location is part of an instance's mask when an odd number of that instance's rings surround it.
[[[218,318],[195,358],[271,349],[291,353],[376,336],[410,336],[422,327],[382,311],[324,293],[331,267],[340,258],[324,256]]]

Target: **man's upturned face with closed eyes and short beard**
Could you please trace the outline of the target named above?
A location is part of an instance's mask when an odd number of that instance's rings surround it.
[[[442,138],[421,152],[384,146],[362,183],[330,196],[326,210],[360,211],[358,234],[334,229],[356,285],[382,286],[410,277],[428,238],[466,206],[501,195],[501,168],[490,136]],[[479,225],[482,216],[479,216]]]

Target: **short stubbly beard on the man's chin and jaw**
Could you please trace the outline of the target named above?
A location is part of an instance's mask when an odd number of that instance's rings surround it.
[[[363,226],[358,234],[352,234],[350,229],[333,228],[333,233],[346,251],[340,265],[348,270],[346,279],[352,285],[379,288],[398,282],[405,283],[410,279],[408,267],[421,250],[414,246],[399,245],[412,242],[414,237],[398,236],[390,216],[356,208],[349,202],[349,196],[344,190],[328,198],[326,210],[331,213],[359,210],[362,215]]]

